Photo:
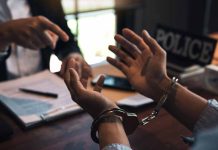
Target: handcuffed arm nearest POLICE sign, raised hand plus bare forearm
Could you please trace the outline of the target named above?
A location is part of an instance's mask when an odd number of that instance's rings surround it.
[[[108,62],[121,70],[138,92],[158,102],[171,84],[166,73],[166,52],[145,30],[140,37],[124,29],[123,35],[116,35],[115,40],[124,49],[109,46],[119,59],[109,57]],[[193,129],[207,100],[177,84],[164,106],[187,128]]]

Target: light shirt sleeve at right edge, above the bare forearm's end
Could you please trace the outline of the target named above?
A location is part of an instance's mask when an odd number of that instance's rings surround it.
[[[218,102],[208,100],[208,106],[194,126],[194,133],[218,126]]]

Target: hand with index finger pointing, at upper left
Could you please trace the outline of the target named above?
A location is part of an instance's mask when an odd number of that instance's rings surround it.
[[[55,48],[58,37],[68,41],[68,35],[57,25],[43,16],[12,20],[1,25],[1,41],[4,44],[16,43],[31,49],[50,46]]]

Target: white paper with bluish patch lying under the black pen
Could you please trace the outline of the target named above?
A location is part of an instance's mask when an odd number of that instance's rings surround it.
[[[19,88],[53,92],[58,98],[25,93]],[[0,83],[0,101],[28,127],[40,120],[51,120],[60,115],[81,111],[72,101],[64,81],[48,70],[16,80]]]

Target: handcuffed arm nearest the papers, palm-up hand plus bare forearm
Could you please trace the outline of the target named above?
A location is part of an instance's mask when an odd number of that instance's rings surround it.
[[[71,64],[70,64],[71,63]],[[75,65],[76,62],[71,60],[68,67]],[[77,68],[77,67],[76,67]],[[104,77],[101,76],[93,91],[87,90],[88,76],[79,77],[73,68],[67,69],[65,73],[65,83],[70,91],[72,99],[87,111],[93,118],[96,118],[101,112],[118,106],[111,100],[104,97],[100,92]],[[107,145],[118,143],[129,147],[129,141],[123,129],[122,121],[113,116],[100,123],[98,127],[98,137],[100,148]]]

